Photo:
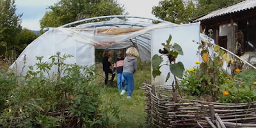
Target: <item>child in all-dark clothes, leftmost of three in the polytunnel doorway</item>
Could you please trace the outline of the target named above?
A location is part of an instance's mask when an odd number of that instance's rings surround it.
[[[105,73],[105,84],[108,84],[108,74],[112,74],[111,77],[111,82],[113,83],[113,80],[115,78],[115,74],[113,74],[113,71],[111,70],[111,50],[110,49],[105,49],[105,51],[103,52],[102,56],[103,56],[103,60],[102,60],[102,65],[103,65],[103,71]]]

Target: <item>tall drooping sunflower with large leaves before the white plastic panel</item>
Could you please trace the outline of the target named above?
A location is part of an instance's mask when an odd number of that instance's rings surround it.
[[[179,44],[170,44],[170,42],[172,41],[172,35],[169,36],[168,40],[166,40],[166,44],[162,44],[163,45],[163,50],[159,49],[159,53],[162,54],[161,56],[159,56],[158,54],[155,54],[152,58],[152,68],[153,68],[153,72],[152,75],[154,77],[154,79],[156,78],[156,76],[161,76],[161,71],[160,68],[161,63],[163,62],[163,58],[162,56],[167,56],[168,57],[168,63],[164,64],[164,65],[169,65],[170,66],[170,72],[172,72],[172,74],[176,77],[182,78],[183,76],[183,72],[184,72],[184,65],[182,62],[178,62],[175,63],[175,60],[177,58],[177,56],[183,55],[183,51],[182,48],[180,47]],[[168,73],[168,76],[166,77],[166,81],[168,81],[168,79],[170,78],[170,72]]]

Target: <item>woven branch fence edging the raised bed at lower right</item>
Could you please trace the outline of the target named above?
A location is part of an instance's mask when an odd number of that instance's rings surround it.
[[[256,127],[256,102],[223,104],[180,99],[175,92],[170,96],[161,93],[172,92],[170,86],[143,85],[147,120],[155,127]]]

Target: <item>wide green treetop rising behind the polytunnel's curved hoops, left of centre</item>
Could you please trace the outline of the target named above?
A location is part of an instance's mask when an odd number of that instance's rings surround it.
[[[49,6],[50,12],[40,20],[40,27],[57,27],[76,20],[103,15],[126,15],[116,0],[60,0]]]

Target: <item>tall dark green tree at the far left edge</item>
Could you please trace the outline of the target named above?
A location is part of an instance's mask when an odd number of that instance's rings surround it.
[[[21,31],[22,14],[16,14],[15,0],[0,0],[0,42],[6,44],[8,49],[13,49],[19,40]],[[0,48],[0,53],[6,51],[5,47]]]

